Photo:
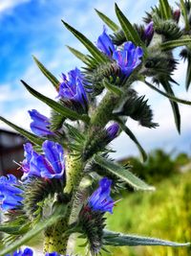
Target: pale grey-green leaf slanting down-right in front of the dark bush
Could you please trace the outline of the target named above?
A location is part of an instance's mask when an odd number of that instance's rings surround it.
[[[149,186],[144,181],[139,179],[138,176],[133,175],[127,169],[117,163],[114,163],[113,161],[110,161],[100,155],[96,155],[94,160],[96,164],[107,169],[112,175],[116,175],[137,190],[155,190],[154,187]]]

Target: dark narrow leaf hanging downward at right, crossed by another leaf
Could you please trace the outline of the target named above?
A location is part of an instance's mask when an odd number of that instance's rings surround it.
[[[175,96],[173,89],[171,88],[171,85],[168,81],[160,81],[164,90],[171,94],[172,96]],[[173,114],[174,114],[174,119],[175,119],[175,125],[176,128],[178,130],[178,132],[180,133],[180,109],[179,109],[179,105],[173,101],[170,100],[170,104],[172,106],[173,109]]]

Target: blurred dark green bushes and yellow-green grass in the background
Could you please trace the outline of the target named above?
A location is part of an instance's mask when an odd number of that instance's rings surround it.
[[[122,199],[117,202],[114,214],[107,215],[107,228],[180,243],[191,241],[191,158],[185,153],[175,156],[173,152],[156,150],[144,164],[135,157],[121,162],[131,163],[135,174],[157,190],[119,194]],[[191,255],[191,247],[123,246],[109,250],[115,256]]]

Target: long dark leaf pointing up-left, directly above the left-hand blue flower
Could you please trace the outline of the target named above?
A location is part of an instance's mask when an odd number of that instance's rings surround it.
[[[32,89],[31,86],[29,86],[25,81],[21,81],[24,86],[26,87],[26,89],[37,99],[39,99],[40,101],[42,101],[43,103],[45,103],[46,105],[49,105],[53,108],[53,110],[55,110],[56,112],[60,113],[61,115],[63,115],[66,118],[69,119],[76,119],[76,120],[82,120],[84,122],[88,122],[89,121],[89,117],[87,115],[80,115],[78,113],[76,113],[74,110],[64,106],[64,105],[60,105],[56,102],[54,102],[52,99],[42,95],[41,93],[37,92],[36,90]]]

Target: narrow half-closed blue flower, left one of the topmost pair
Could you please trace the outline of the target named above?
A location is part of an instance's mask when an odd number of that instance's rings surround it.
[[[98,36],[96,45],[97,45],[97,48],[102,53],[104,53],[108,57],[112,58],[113,53],[115,51],[115,46],[114,46],[110,36],[107,35],[106,31],[107,30],[106,30],[105,26],[103,26],[103,33]]]

